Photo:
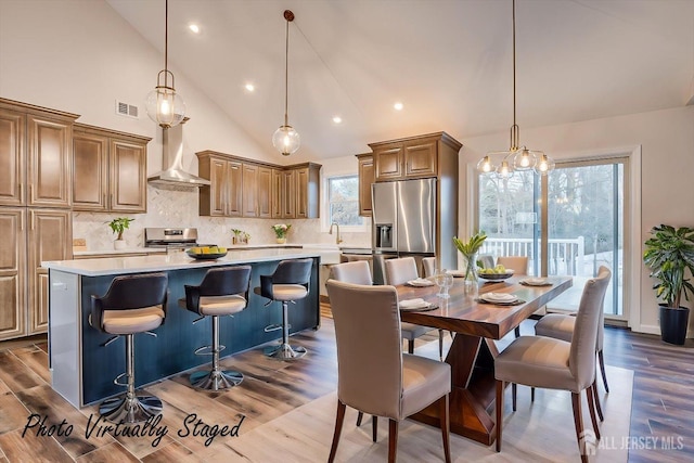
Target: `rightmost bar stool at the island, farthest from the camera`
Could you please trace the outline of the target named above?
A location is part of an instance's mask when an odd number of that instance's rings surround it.
[[[290,346],[290,329],[287,306],[291,301],[303,299],[308,295],[308,283],[311,279],[313,259],[281,260],[274,273],[260,275],[260,286],[253,291],[270,299],[266,307],[275,300],[282,301],[282,324],[266,326],[265,332],[282,330],[282,340],[279,346],[265,349],[265,355],[277,360],[295,360],[306,355],[306,348]]]

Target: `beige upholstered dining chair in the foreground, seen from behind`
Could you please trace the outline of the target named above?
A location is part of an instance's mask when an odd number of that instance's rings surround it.
[[[389,420],[388,462],[395,462],[400,421],[436,403],[445,460],[450,462],[451,369],[402,352],[397,290],[336,280],[325,286],[337,344],[337,413],[327,461],[335,461],[347,406]]]

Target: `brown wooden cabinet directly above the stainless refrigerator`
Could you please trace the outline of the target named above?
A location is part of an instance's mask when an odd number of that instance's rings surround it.
[[[370,143],[375,181],[440,177],[462,144],[446,132]],[[458,160],[455,160],[458,165]]]

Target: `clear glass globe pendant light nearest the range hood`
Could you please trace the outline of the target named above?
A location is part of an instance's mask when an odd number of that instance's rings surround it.
[[[166,0],[164,26],[164,69],[156,77],[156,87],[147,94],[145,108],[147,116],[164,128],[174,127],[185,116],[183,98],[176,93],[174,73],[168,69],[169,47],[169,0]]]

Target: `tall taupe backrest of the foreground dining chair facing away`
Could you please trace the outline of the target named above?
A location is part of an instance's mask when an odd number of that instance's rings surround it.
[[[402,340],[398,293],[329,280],[337,343],[337,398],[376,416],[400,419]]]

